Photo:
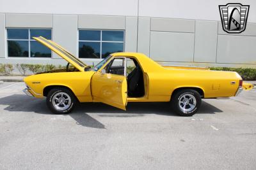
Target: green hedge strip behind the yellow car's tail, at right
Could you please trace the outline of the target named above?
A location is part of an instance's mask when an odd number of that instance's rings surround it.
[[[256,80],[256,69],[253,68],[210,67],[210,69],[218,71],[236,71],[238,74],[240,74],[243,80]]]

